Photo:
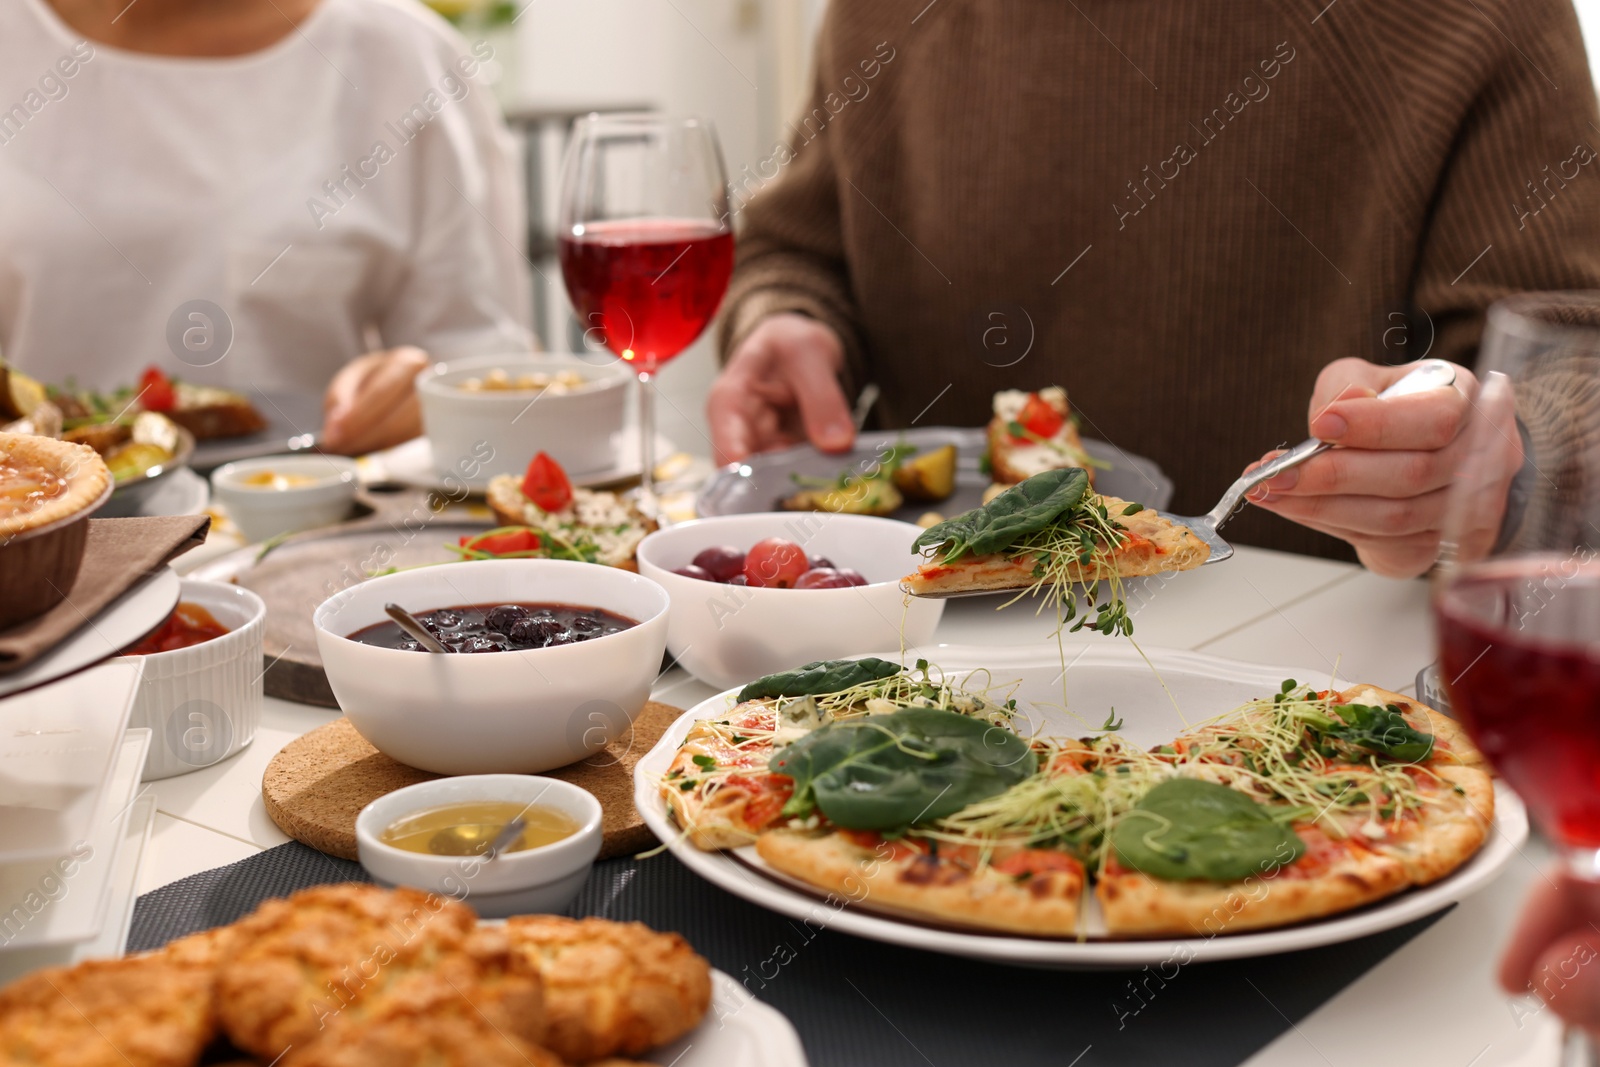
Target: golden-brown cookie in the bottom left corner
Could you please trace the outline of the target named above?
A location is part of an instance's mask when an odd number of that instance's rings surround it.
[[[0,989],[0,1064],[190,1067],[216,1033],[211,976],[163,953],[34,971]]]

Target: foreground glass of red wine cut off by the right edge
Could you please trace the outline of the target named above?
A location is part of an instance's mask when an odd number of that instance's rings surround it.
[[[1453,712],[1600,896],[1600,293],[1490,309],[1434,576]],[[1587,1043],[1568,1035],[1568,1062]]]

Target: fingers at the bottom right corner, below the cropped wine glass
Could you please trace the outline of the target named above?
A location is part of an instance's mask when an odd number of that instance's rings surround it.
[[[1562,1019],[1600,1035],[1600,885],[1563,870],[1534,881],[1499,981],[1509,993],[1538,993]]]

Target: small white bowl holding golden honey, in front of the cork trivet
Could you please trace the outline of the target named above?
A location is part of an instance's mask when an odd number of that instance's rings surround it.
[[[474,800],[547,805],[570,816],[578,830],[539,848],[482,856],[427,856],[379,835],[400,819]],[[600,801],[557,777],[531,774],[467,774],[418,782],[379,797],[355,816],[355,853],[384,886],[411,886],[470,905],[483,918],[560,912],[578,897],[600,854]]]

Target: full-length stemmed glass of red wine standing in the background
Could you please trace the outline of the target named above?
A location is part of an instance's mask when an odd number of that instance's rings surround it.
[[[728,176],[710,122],[579,118],[557,234],[584,339],[638,374],[640,506],[658,514],[654,376],[706,331],[733,274]]]

